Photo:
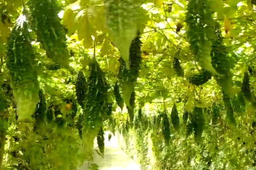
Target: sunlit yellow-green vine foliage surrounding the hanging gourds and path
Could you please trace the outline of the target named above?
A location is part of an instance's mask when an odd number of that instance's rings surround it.
[[[67,107],[67,101],[72,99],[71,103],[76,103],[75,82],[79,70],[82,69],[85,77],[89,77],[89,62],[94,55],[95,43],[96,59],[110,85],[109,100],[113,101],[113,119],[104,122],[105,128],[122,133],[127,153],[137,155],[142,169],[255,169],[255,107],[249,100],[245,100],[245,104],[238,100],[244,73],[248,67],[255,66],[256,8],[253,0],[209,1],[215,12],[213,19],[220,25],[223,44],[232,59],[230,65],[233,65],[231,72],[234,91],[230,97],[236,125],[229,123],[226,118],[223,92],[214,77],[203,85],[196,86],[178,76],[173,66],[175,57],[180,60],[185,77],[201,69],[200,64],[195,61],[186,34],[188,1],[132,1],[136,13],[132,17],[123,16],[125,19],[133,18],[127,23],[127,27],[136,26],[142,33],[142,63],[135,85],[134,123],[128,119],[126,108],[121,110],[117,106],[113,91],[118,80],[120,55],[130,46],[129,32],[111,34],[103,24],[106,18],[102,0],[56,2],[61,23],[66,29],[69,67],[50,70],[52,60],[46,56],[46,51],[33,32],[31,44],[36,52],[38,81],[45,94],[47,113],[55,113],[56,118],[59,115],[65,123],[61,124],[55,118],[47,126],[37,127],[38,130],[35,129],[34,122],[16,121],[16,104],[13,102],[6,67],[7,38],[16,18],[21,14],[22,4],[20,0],[0,0],[0,84],[3,93],[7,94],[5,96],[9,104],[7,112],[4,112],[8,113],[6,117],[9,118],[4,168],[75,169],[87,159],[84,155],[86,146],[76,129],[83,108],[78,105],[77,111],[74,111],[74,108]],[[120,9],[124,10],[124,7]],[[121,40],[116,40],[115,37],[119,36]],[[123,39],[127,41],[122,42]],[[254,88],[253,71],[250,72],[250,90],[253,95]],[[123,96],[125,97],[127,96]],[[171,124],[170,115],[174,102],[179,116],[179,130],[175,130]],[[194,134],[187,135],[187,124],[191,121],[190,114],[195,107],[203,108],[204,122],[201,124],[205,126],[200,141],[195,140]],[[136,126],[141,108],[142,121]],[[220,117],[214,124],[216,109]],[[72,118],[74,112],[76,116]],[[161,112],[167,113],[170,122],[169,144],[162,134],[162,124],[156,128],[154,123],[155,117]],[[185,112],[189,112],[188,123],[182,119]],[[1,123],[6,126],[7,119],[3,117],[1,120],[4,120]]]

